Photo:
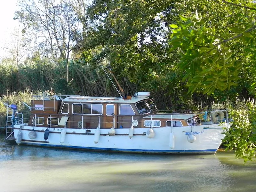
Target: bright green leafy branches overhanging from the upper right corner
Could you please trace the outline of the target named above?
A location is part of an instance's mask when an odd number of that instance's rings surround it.
[[[232,7],[222,5],[224,10]],[[177,48],[181,50],[178,66],[185,71],[183,80],[188,80],[189,92],[195,92],[197,88],[203,88],[204,94],[211,94],[215,89],[230,90],[231,86],[237,85],[241,68],[253,66],[256,69],[254,14],[239,6],[228,11],[238,22],[231,24],[233,18],[222,16],[223,23],[229,22],[226,30],[211,20],[206,22],[197,12],[191,19],[181,16],[183,22],[170,25],[173,28],[170,52]]]

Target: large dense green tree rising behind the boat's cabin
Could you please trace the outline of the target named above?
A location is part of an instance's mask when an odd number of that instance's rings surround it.
[[[163,0],[93,1],[84,50],[103,46],[99,57],[107,57],[119,80],[128,77],[138,90],[161,90],[159,95],[178,100],[179,92],[186,91],[179,86],[176,54],[167,54],[172,6],[172,1]]]

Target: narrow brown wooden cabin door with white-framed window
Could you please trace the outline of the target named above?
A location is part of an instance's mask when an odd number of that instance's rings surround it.
[[[105,115],[103,117],[103,128],[111,128],[113,126],[114,119],[114,127],[117,128],[117,104],[106,104],[104,105]]]

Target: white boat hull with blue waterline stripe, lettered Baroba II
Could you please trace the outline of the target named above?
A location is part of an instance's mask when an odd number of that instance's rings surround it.
[[[45,127],[32,127],[26,125],[14,125],[14,137],[17,138],[18,131],[22,132],[20,144],[74,148],[97,151],[114,151],[129,153],[154,153],[154,154],[214,154],[224,138],[223,129],[220,124],[182,126],[182,127],[157,127],[153,128],[155,136],[147,138],[148,128],[134,128],[130,139],[129,129],[116,129],[116,134],[110,136],[109,129],[100,129],[100,138],[95,144],[94,133],[96,129],[66,129],[63,139],[61,131],[63,128],[49,128],[49,137],[44,140]],[[224,124],[227,128],[229,123]],[[34,128],[35,139],[29,139],[28,134]],[[188,134],[191,132],[196,136],[193,143],[188,142]],[[174,148],[170,148],[170,133],[174,134]],[[61,138],[61,140],[60,140]],[[60,142],[61,141],[61,142]]]

